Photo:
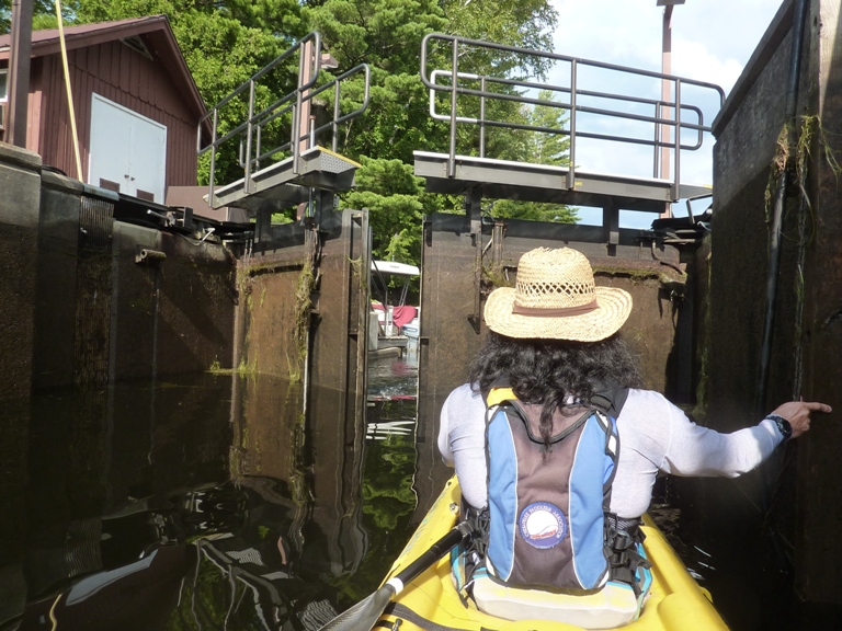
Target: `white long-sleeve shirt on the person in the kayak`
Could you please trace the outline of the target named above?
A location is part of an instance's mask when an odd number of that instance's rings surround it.
[[[486,406],[465,383],[444,402],[439,450],[456,468],[465,500],[488,504],[486,491]],[[621,518],[642,515],[652,498],[658,471],[674,475],[736,478],[765,460],[783,440],[773,421],[720,434],[696,425],[662,394],[629,390],[617,418],[619,460],[611,510]]]

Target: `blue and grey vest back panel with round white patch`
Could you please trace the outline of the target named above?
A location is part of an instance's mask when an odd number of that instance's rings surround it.
[[[487,404],[489,574],[510,585],[602,587],[614,577],[616,532],[608,504],[619,436],[611,401],[571,415],[556,410],[549,447],[541,405],[501,388]]]

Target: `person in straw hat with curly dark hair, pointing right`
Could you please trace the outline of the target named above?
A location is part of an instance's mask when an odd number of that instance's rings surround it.
[[[564,547],[566,535],[572,539],[572,543],[567,543],[571,548],[568,554],[573,559],[584,554],[585,546],[580,541],[589,536],[577,534],[584,528],[577,525],[577,518],[582,520],[582,507],[589,502],[581,500],[583,492],[574,486],[577,475],[583,475],[579,471],[583,466],[579,462],[591,458],[585,451],[589,438],[576,438],[580,446],[570,448],[573,456],[567,458],[567,469],[559,464],[565,458],[556,458],[555,464],[550,461],[554,450],[565,454],[560,446],[569,441],[567,433],[574,431],[568,426],[574,420],[584,418],[590,411],[595,409],[605,412],[604,417],[616,420],[615,429],[612,431],[611,424],[603,426],[605,454],[613,440],[612,432],[618,434],[619,448],[608,455],[604,470],[604,506],[598,506],[600,514],[605,509],[605,530],[612,532],[607,539],[616,537],[617,532],[635,539],[636,525],[649,507],[659,471],[676,475],[738,477],[758,467],[781,443],[807,432],[812,412],[831,411],[823,403],[792,401],[780,405],[756,425],[731,434],[696,425],[662,394],[640,388],[636,360],[618,335],[630,310],[630,295],[619,288],[596,287],[588,260],[568,248],[527,252],[519,264],[516,286],[498,288],[488,298],[485,321],[490,332],[471,366],[470,382],[455,389],[444,402],[439,449],[445,463],[455,467],[463,500],[471,515],[487,516],[491,495],[492,526],[490,534],[486,532],[490,540],[483,542],[480,553],[485,553],[486,546],[491,549],[501,546],[499,540],[494,541],[496,532],[498,539],[500,532],[505,535],[502,538],[512,539],[498,552],[498,558],[507,559],[503,564],[513,569],[511,574],[507,570],[501,572],[500,563],[493,559],[491,563],[480,559],[480,566],[489,565],[489,574],[499,583],[516,587],[519,582],[528,582],[550,590],[554,587],[565,590],[571,585],[547,584],[545,580],[528,577],[528,569],[535,560],[543,562],[549,557],[546,540],[537,535],[531,537],[530,524],[539,524],[543,529],[549,528],[554,532],[559,524],[560,536],[556,536],[557,544],[553,543],[553,547]],[[501,391],[508,393],[502,399]],[[503,399],[514,401],[513,405],[504,408],[512,429],[507,427],[502,434],[494,431],[494,436],[503,438],[491,436],[491,429],[487,436],[487,427],[491,427],[492,417],[499,412],[494,404]],[[515,416],[519,421],[511,422]],[[524,436],[528,436],[527,439],[517,438],[521,425],[526,426]],[[590,431],[579,432],[585,432],[587,436]],[[595,432],[603,436],[599,429]],[[496,448],[493,444],[502,447]],[[524,456],[530,449],[541,456]],[[501,460],[500,451],[505,451],[508,461]],[[525,463],[528,458],[531,460]],[[599,458],[605,460],[602,452]],[[492,463],[490,478],[488,461]],[[547,490],[533,489],[531,480],[539,478],[545,466],[561,467],[558,469],[561,473],[555,473],[555,480],[570,485],[558,501],[535,501]],[[602,466],[601,461],[599,467]],[[528,475],[524,473],[526,470]],[[600,475],[602,471],[600,469]],[[539,482],[535,484],[541,485]],[[512,497],[507,493],[513,494]],[[517,495],[516,509],[514,495]],[[591,528],[601,526],[601,523],[589,525]],[[613,546],[612,540],[604,543],[608,548]],[[519,560],[523,551],[528,555],[532,548],[541,554]],[[602,548],[599,551],[602,552]],[[608,565],[617,565],[610,551],[605,557]],[[596,561],[604,562],[605,559]],[[567,562],[572,560],[564,561]],[[581,564],[584,566],[585,561]],[[525,578],[507,578],[520,576],[519,565],[526,569]],[[584,573],[580,572],[579,565],[573,572],[577,580]],[[601,584],[594,585],[602,587],[605,578],[599,581]],[[583,581],[580,584],[585,590],[594,586]],[[639,596],[638,586],[635,595]],[[639,600],[642,601],[642,597]],[[499,609],[497,613],[500,613]],[[515,619],[517,612],[508,617]]]

